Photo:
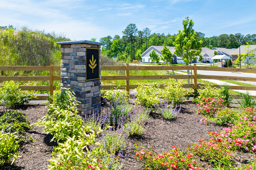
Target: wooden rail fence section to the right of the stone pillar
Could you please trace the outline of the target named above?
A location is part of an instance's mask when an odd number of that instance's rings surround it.
[[[126,71],[124,76],[102,76],[102,80],[126,80],[125,85],[102,85],[101,89],[110,90],[113,88],[126,89],[135,89],[139,86],[130,85],[127,80],[152,80],[152,79],[193,79],[193,84],[183,84],[184,88],[193,88],[196,91],[198,88],[204,88],[206,84],[197,84],[197,79],[213,79],[213,80],[239,80],[239,81],[252,81],[256,82],[256,78],[253,77],[235,77],[235,76],[217,76],[217,75],[198,75],[197,70],[205,71],[228,71],[235,73],[256,73],[256,69],[246,69],[246,68],[217,68],[217,67],[206,67],[206,66],[102,66],[102,71],[105,70],[123,70]],[[135,70],[192,70],[192,75],[130,75],[129,71]],[[164,88],[165,84],[160,84],[160,88]],[[221,85],[212,85],[213,87],[221,88]],[[230,90],[256,90],[254,86],[229,86]],[[239,97],[240,95],[234,95]]]

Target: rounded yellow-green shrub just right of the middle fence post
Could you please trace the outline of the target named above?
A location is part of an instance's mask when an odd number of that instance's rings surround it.
[[[158,88],[157,83],[152,83],[146,85],[141,85],[136,88],[138,94],[136,95],[135,102],[138,104],[142,104],[143,106],[150,108],[156,106],[159,102],[159,94],[160,89]]]

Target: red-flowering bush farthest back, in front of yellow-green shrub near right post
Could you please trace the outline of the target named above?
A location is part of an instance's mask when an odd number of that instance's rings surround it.
[[[207,99],[202,98],[201,103],[198,103],[197,105],[199,106],[197,114],[212,116],[215,112],[223,108],[223,100],[221,98],[211,97],[208,97]]]

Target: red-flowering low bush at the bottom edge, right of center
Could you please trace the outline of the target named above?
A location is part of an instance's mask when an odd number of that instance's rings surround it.
[[[139,146],[137,143],[135,147],[136,154],[134,157],[138,162],[143,163],[142,168],[146,170],[203,170],[202,167],[198,167],[200,165],[196,164],[197,161],[192,153],[184,154],[175,145],[172,146],[173,150],[170,150],[170,152],[161,154],[156,154],[153,148],[149,152],[142,150],[143,145]]]

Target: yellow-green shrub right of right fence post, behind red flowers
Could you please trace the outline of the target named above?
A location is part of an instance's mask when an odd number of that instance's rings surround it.
[[[200,104],[203,98],[208,99],[209,97],[213,99],[214,98],[222,99],[223,98],[222,90],[207,84],[206,86],[204,86],[204,89],[200,91],[200,95],[197,98],[193,99],[193,102]]]

